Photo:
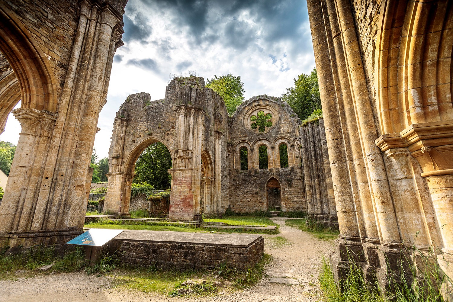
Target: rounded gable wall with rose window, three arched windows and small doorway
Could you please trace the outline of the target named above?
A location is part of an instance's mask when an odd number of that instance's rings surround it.
[[[253,129],[252,116],[270,113],[270,127],[264,131]],[[268,210],[267,184],[277,184],[281,194],[281,210],[306,211],[304,180],[300,153],[300,120],[294,111],[280,99],[271,96],[255,96],[244,101],[230,121],[229,131],[229,197],[231,210],[253,212]],[[288,149],[288,168],[280,168],[279,145]],[[267,147],[268,168],[259,168],[258,148]],[[248,151],[248,169],[241,170],[240,148]],[[274,187],[273,187],[274,188]]]

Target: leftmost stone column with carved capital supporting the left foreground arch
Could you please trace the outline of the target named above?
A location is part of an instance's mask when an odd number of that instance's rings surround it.
[[[35,217],[36,198],[43,180],[43,161],[48,153],[50,134],[56,114],[32,108],[13,110],[22,126],[10,176],[0,205],[0,232],[27,232]]]

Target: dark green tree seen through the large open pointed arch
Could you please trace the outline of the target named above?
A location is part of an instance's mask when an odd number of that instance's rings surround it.
[[[169,150],[164,144],[156,142],[143,151],[135,163],[133,183],[149,183],[156,190],[165,190],[171,186],[168,169],[172,168]]]

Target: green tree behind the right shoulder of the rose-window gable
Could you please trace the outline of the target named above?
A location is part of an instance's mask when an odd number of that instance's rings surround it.
[[[299,74],[294,79],[294,87],[286,88],[282,100],[293,108],[301,120],[305,120],[314,110],[321,109],[316,68],[310,74]]]

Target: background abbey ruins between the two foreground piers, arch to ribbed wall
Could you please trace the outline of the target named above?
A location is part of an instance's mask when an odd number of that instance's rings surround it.
[[[308,211],[336,227],[323,121],[299,127],[288,104],[266,95],[243,102],[228,118],[222,98],[201,77],[172,80],[162,100],[130,95],[114,122],[104,210],[129,215],[135,162],[161,142],[173,159],[172,220],[218,216],[230,207]]]

